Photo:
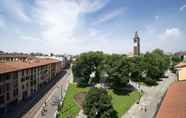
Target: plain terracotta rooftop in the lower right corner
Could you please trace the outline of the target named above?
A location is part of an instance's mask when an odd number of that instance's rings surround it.
[[[173,83],[168,89],[156,118],[186,118],[186,81]]]

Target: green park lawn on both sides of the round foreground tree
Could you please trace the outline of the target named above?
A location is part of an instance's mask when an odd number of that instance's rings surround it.
[[[70,84],[65,96],[63,109],[61,111],[61,118],[66,118],[69,114],[75,118],[79,113],[80,107],[76,103],[74,96],[79,92],[87,92],[89,88],[78,88],[75,84]],[[139,99],[139,92],[133,91],[129,95],[117,95],[109,90],[109,94],[112,96],[112,103],[114,109],[118,112],[118,116],[121,117],[136,101]]]

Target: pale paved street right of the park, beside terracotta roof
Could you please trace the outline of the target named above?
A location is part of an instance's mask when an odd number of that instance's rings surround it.
[[[153,118],[167,88],[175,79],[176,75],[169,73],[168,78],[163,78],[158,86],[147,87],[141,85],[140,89],[144,91],[144,95],[141,97],[140,103],[134,104],[122,118]],[[138,88],[136,83],[131,84]]]

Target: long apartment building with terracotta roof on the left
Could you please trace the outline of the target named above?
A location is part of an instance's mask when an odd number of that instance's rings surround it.
[[[61,61],[56,59],[11,58],[0,63],[0,109],[34,96],[61,71]]]

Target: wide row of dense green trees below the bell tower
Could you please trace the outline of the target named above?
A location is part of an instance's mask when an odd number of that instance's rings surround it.
[[[177,57],[172,57],[173,59],[179,60]],[[87,52],[79,55],[72,70],[79,85],[105,82],[115,89],[125,87],[129,79],[154,83],[164,76],[170,62],[170,56],[160,49],[133,57]]]

